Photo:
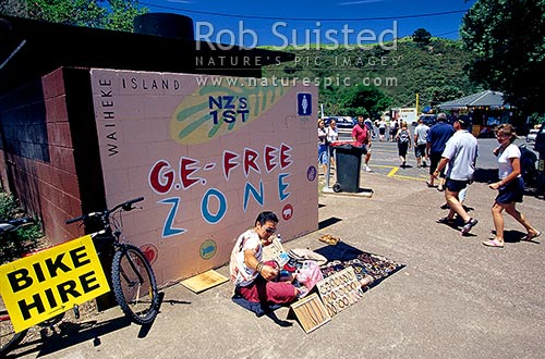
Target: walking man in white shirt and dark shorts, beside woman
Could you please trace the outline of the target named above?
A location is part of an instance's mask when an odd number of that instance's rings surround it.
[[[434,176],[446,168],[445,199],[450,211],[447,216],[438,219],[437,223],[453,224],[455,213],[463,220],[462,235],[467,235],[477,220],[470,218],[462,203],[459,194],[473,180],[475,162],[477,158],[477,140],[468,132],[469,119],[458,119],[455,122],[456,133],[445,146],[445,151],[434,171]]]

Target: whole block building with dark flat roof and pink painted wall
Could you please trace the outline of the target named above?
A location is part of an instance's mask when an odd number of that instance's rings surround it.
[[[160,284],[225,264],[265,208],[286,240],[315,231],[317,87],[262,77],[293,55],[195,41],[180,15],[135,25],[0,16],[0,186],[53,244],[144,196],[123,233]]]

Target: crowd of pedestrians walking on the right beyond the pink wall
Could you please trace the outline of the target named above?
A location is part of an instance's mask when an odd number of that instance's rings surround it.
[[[361,147],[364,153],[363,171],[371,172],[368,165],[371,159],[372,138],[376,138],[375,128],[378,128],[378,140],[386,140],[386,132],[389,128],[389,141],[396,141],[400,168],[407,168],[407,154],[414,147],[416,168],[427,168],[429,162],[429,178],[426,185],[444,193],[445,202],[441,209],[448,210],[448,214],[438,219],[437,223],[455,226],[461,221],[461,234],[468,235],[479,223],[472,218],[465,207],[464,200],[469,186],[473,182],[476,160],[479,157],[479,146],[475,136],[468,127],[470,119],[468,116],[456,117],[452,124],[447,122],[447,115],[439,113],[437,122],[431,127],[419,120],[414,134],[411,135],[408,124],[404,121],[393,119],[388,125],[384,119],[373,122],[367,115],[358,116],[358,124],[354,125],[351,137],[355,146]],[[320,136],[330,136],[325,129],[320,129],[318,122],[318,144]],[[332,123],[335,134],[330,140],[337,140],[338,131]],[[324,133],[326,135],[324,135]],[[489,184],[489,188],[497,190],[497,196],[492,206],[492,218],[495,230],[494,238],[483,242],[483,245],[494,248],[504,247],[504,216],[506,212],[518,221],[526,231],[521,240],[533,240],[541,236],[541,232],[530,224],[525,215],[517,210],[516,203],[522,202],[524,194],[524,181],[521,176],[521,151],[513,144],[517,135],[510,124],[501,124],[495,129],[499,146],[494,150],[498,160],[498,182]],[[325,150],[324,150],[325,151]],[[318,161],[322,150],[318,146]],[[332,152],[330,152],[332,153]],[[327,163],[327,162],[326,162]],[[334,164],[334,163],[331,163]]]

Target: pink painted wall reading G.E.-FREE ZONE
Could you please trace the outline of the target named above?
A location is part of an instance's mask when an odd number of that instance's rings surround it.
[[[317,88],[256,78],[94,69],[109,206],[159,283],[217,268],[263,210],[284,240],[317,228]]]

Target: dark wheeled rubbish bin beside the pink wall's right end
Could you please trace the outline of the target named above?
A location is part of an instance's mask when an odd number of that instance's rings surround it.
[[[334,191],[358,193],[364,150],[347,143],[331,145],[335,146],[335,163],[337,163],[337,183],[334,185]]]

